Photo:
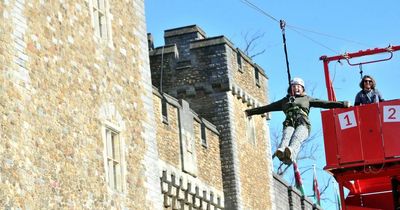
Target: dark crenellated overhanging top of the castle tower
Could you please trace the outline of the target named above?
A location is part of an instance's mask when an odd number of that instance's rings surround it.
[[[164,37],[166,45],[150,51],[156,87],[176,98],[232,91],[250,106],[267,102],[263,68],[225,36],[206,37],[191,25],[165,30]]]

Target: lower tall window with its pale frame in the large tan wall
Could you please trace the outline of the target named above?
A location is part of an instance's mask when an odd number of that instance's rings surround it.
[[[104,168],[110,192],[126,192],[125,145],[121,129],[112,123],[103,126]]]

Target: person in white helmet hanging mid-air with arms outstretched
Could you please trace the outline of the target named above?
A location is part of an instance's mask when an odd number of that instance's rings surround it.
[[[349,107],[349,102],[325,101],[310,97],[305,92],[304,81],[301,78],[293,78],[285,97],[265,106],[247,109],[245,113],[249,117],[273,111],[285,113],[282,140],[274,154],[284,164],[290,165],[296,161],[301,144],[310,135],[311,123],[308,115],[311,107],[346,108]]]

